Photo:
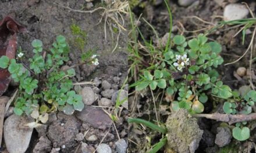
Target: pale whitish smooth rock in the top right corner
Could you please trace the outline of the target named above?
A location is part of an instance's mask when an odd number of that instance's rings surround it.
[[[239,3],[230,3],[224,9],[224,20],[239,20],[244,19],[249,14],[249,10],[246,8],[246,5]]]

